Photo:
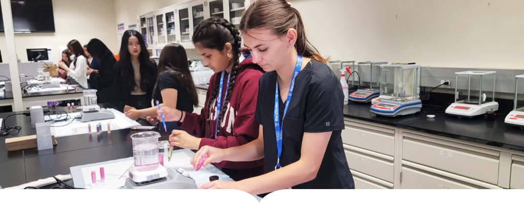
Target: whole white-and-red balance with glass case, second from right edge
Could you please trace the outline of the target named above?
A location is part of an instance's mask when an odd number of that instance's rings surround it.
[[[459,118],[473,118],[497,111],[496,73],[487,71],[455,73],[455,102],[447,107],[446,113]]]

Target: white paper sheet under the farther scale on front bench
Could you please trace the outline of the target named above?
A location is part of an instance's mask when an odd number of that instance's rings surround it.
[[[98,121],[91,121],[91,122],[80,122],[79,120],[74,120],[73,122],[71,122],[71,120],[68,120],[64,122],[53,123],[51,124],[51,132],[53,133],[54,137],[84,134],[84,133],[89,133],[88,125],[91,124],[91,133],[96,133],[96,127],[99,125],[99,122],[102,123],[102,132],[107,132],[107,123],[110,123],[112,131],[120,130],[120,129],[128,129],[129,127],[140,125],[136,121],[133,121],[127,118],[124,115],[124,113],[122,112],[119,112],[115,109],[107,109],[107,110],[115,114],[115,119],[98,120]],[[71,119],[74,119],[75,116],[78,116],[80,114],[80,112],[74,112],[74,113],[68,113],[68,114],[69,116],[71,116]],[[58,116],[60,116],[60,114],[51,115],[53,119],[58,118]],[[49,120],[49,116],[47,115],[45,115],[44,118],[45,120]],[[61,119],[63,118],[64,118],[64,115],[62,114]]]

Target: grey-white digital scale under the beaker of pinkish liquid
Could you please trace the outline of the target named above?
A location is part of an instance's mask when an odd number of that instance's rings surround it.
[[[183,169],[179,169],[183,170]],[[138,171],[129,167],[129,178],[121,189],[197,189],[195,180],[187,171],[166,169],[162,165],[150,171]]]

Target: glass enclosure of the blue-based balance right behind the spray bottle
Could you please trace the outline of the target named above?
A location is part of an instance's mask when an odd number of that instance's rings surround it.
[[[360,77],[361,90],[377,91],[380,88],[380,65],[388,62],[358,62],[358,76]]]

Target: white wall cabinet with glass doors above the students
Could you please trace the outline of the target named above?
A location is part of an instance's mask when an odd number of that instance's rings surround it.
[[[178,43],[186,49],[194,49],[191,38],[200,22],[210,17],[221,17],[239,29],[242,13],[253,1],[196,0],[171,5],[138,16],[139,31],[144,35],[149,50],[162,49],[168,43]]]

